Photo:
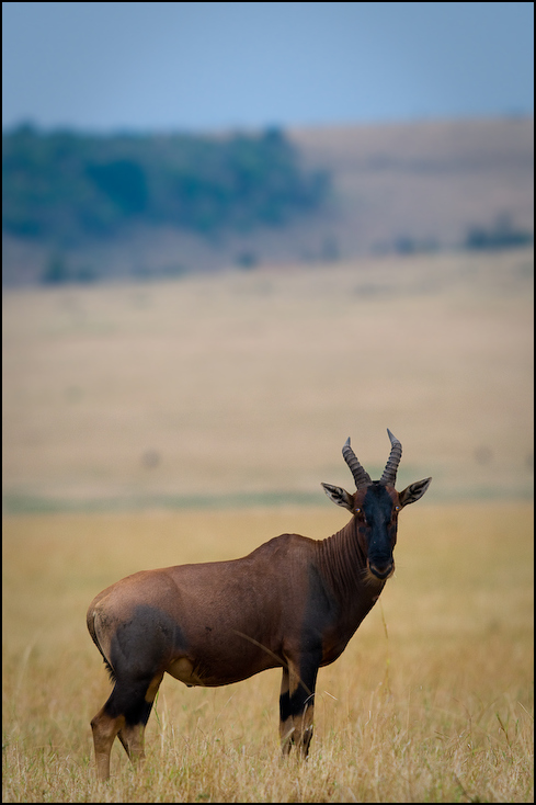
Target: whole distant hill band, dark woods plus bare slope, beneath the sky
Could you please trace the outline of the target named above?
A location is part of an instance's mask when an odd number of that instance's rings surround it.
[[[2,284],[529,245],[534,121],[3,136]]]

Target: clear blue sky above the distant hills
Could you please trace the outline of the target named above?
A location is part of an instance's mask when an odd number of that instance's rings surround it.
[[[529,2],[4,2],[3,126],[533,114]]]

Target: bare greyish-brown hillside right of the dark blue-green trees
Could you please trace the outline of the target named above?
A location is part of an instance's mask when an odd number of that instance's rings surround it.
[[[307,161],[334,177],[337,214],[318,229],[341,253],[403,236],[457,246],[505,209],[533,230],[532,120],[327,126],[294,136]]]

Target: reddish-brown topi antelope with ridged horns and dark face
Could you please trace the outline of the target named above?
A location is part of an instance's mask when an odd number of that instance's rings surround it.
[[[110,776],[116,736],[133,762],[166,672],[186,685],[238,682],[283,668],[280,730],[307,756],[318,669],[333,662],[395,570],[398,513],[419,500],[431,478],[397,492],[402,445],[370,480],[350,446],[342,450],[356,491],[322,484],[351,521],[327,540],[282,534],[230,562],[142,570],[103,590],[88,628],[114,682],[91,722],[98,773]]]

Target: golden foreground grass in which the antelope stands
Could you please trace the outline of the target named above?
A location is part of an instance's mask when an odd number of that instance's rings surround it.
[[[321,508],[19,515],[4,520],[4,802],[532,802],[528,503],[404,510],[397,572],[321,669],[307,762],[278,752],[280,671],[218,689],[167,678],[133,771],[93,772],[90,718],[111,690],[85,631],[93,596],[140,568],[231,558]]]

